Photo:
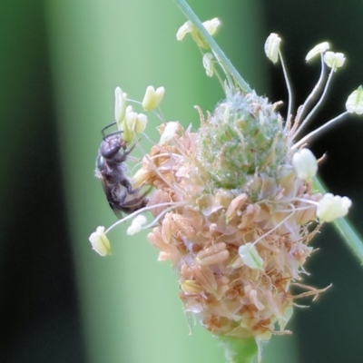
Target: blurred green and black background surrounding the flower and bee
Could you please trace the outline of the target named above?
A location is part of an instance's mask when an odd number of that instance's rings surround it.
[[[271,32],[283,37],[296,104],[319,76],[318,63],[304,61],[312,46],[328,40],[347,55],[311,127],[340,113],[362,83],[360,0],[190,5],[202,20],[221,18],[217,42],[272,101],[286,101],[287,92],[263,54]],[[145,234],[113,231],[108,258],[88,242],[98,225],[115,221],[93,177],[115,86],[141,100],[147,85],[163,85],[165,118],[184,125],[198,123],[194,104],[212,111],[222,97],[197,46],[176,42],[184,16],[172,0],[5,0],[0,10],[0,362],[223,362],[207,332],[189,334],[177,278]],[[151,117],[153,140],[157,124]],[[322,180],[355,202],[349,218],[361,232],[362,136],[363,120],[352,117],[313,145],[317,155],[328,152]],[[293,336],[272,338],[264,362],[362,361],[363,270],[329,226],[314,243],[306,282],[333,288],[296,310]]]

